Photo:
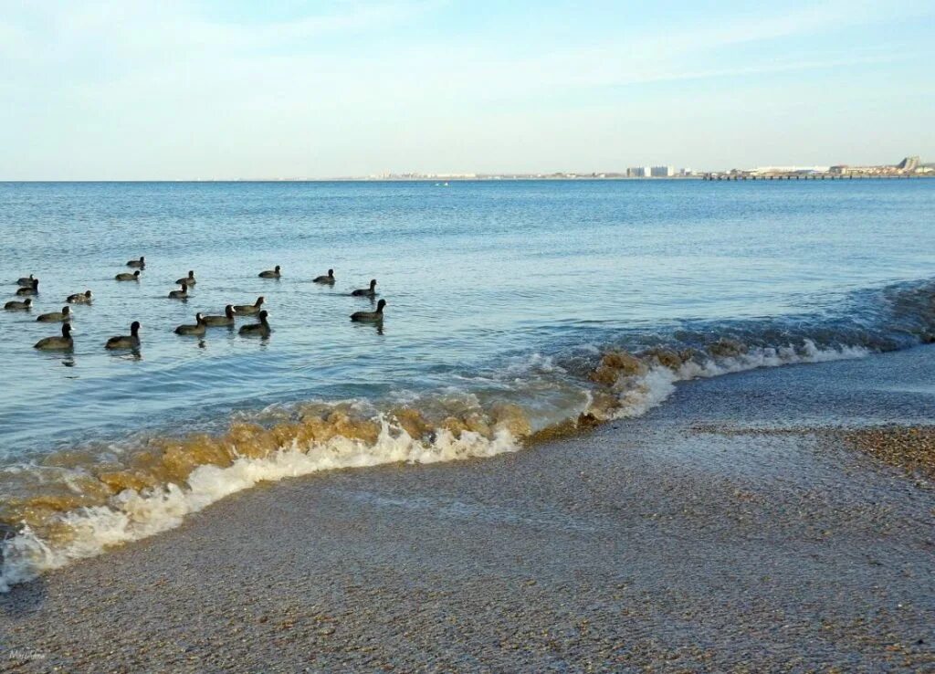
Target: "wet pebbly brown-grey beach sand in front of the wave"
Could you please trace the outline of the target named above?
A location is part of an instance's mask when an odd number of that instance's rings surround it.
[[[758,370],[516,454],[268,484],[0,596],[0,669],[931,670],[935,489],[854,434],[916,447],[932,381],[935,347]]]

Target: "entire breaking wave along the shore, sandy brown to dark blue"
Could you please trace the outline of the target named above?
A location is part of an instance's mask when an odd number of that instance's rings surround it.
[[[680,324],[602,348],[574,346],[466,373],[460,388],[380,401],[310,401],[237,415],[223,433],[136,437],[7,466],[0,488],[0,591],[178,526],[261,481],[340,468],[435,463],[638,417],[681,381],[859,358],[933,340],[935,284],[863,297],[862,313]]]

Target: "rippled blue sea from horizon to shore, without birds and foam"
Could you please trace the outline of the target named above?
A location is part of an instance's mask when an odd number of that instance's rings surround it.
[[[506,423],[497,403],[518,406],[532,430],[589,409],[587,375],[611,348],[703,353],[674,375],[613,384],[615,414],[627,416],[676,380],[909,346],[935,330],[933,214],[935,181],[922,179],[0,184],[7,299],[19,277],[40,279],[30,313],[0,312],[0,488],[21,505],[50,483],[82,492],[76,476],[122,469],[152,438],[223,434],[232,419],[295,422],[290,406],[309,401],[356,401],[361,419],[408,404],[432,426],[481,414],[468,430],[493,440]],[[139,255],[138,283],[113,280]],[[257,277],[274,265],[281,280]],[[334,287],[311,282],[329,267]],[[189,269],[192,297],[168,299]],[[371,278],[386,318],[351,323],[371,303],[350,291]],[[34,351],[59,330],[35,316],[86,289],[94,304],[73,308],[74,352]],[[268,340],[172,333],[196,311],[258,295]],[[133,320],[138,353],[105,351]],[[710,349],[726,337],[733,346]],[[383,450],[374,456],[414,460],[411,448]],[[29,521],[108,497],[45,503]]]

